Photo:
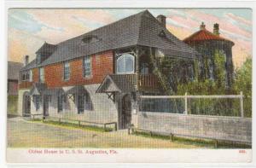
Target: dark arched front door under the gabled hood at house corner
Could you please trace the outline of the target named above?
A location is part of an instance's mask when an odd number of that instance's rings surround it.
[[[122,110],[121,110],[121,129],[127,129],[131,124],[131,97],[125,95],[122,99]]]

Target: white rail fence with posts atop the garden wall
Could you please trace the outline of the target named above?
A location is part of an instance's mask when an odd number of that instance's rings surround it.
[[[244,118],[243,97],[242,91],[240,95],[191,96],[185,93],[184,96],[140,96],[142,99],[183,99],[185,102],[184,114],[188,114],[188,99],[239,99],[241,118]]]

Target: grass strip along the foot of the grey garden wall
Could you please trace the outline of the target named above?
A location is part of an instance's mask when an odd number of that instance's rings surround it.
[[[144,137],[150,137],[150,138],[156,138],[156,139],[171,141],[170,136],[164,136],[164,135],[159,135],[159,134],[150,134],[149,132],[143,132],[143,131],[137,131],[136,130],[132,134],[137,135],[137,136],[144,136]],[[172,142],[183,142],[185,144],[192,144],[192,145],[197,145],[197,146],[202,146],[202,147],[216,148],[216,141],[215,140],[172,136]],[[247,145],[247,144],[218,141],[218,148],[252,148],[252,147]]]

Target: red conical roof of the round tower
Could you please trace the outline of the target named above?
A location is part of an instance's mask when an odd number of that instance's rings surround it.
[[[192,43],[192,42],[199,42],[199,41],[207,41],[207,40],[220,40],[220,41],[227,41],[230,43],[233,43],[229,39],[223,38],[219,35],[215,35],[210,31],[207,31],[207,29],[201,29],[198,32],[193,33],[188,38],[184,38],[183,42],[185,43]],[[234,43],[233,43],[234,45]]]

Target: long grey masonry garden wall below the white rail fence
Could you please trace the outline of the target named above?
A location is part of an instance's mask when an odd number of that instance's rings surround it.
[[[176,113],[138,113],[138,128],[212,139],[252,141],[252,119],[185,115]]]

